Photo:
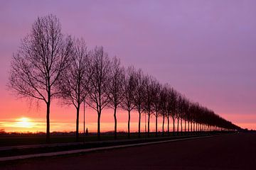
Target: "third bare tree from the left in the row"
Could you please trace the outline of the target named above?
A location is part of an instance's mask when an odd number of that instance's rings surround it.
[[[87,104],[97,111],[97,137],[100,140],[100,116],[103,108],[110,102],[110,59],[103,47],[95,47],[90,55],[92,75]]]

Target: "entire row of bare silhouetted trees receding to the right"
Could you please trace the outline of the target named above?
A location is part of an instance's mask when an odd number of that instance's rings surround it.
[[[18,96],[36,98],[46,103],[46,139],[50,140],[50,103],[61,98],[63,103],[76,108],[76,139],[79,136],[80,106],[83,101],[97,111],[97,136],[100,137],[100,117],[105,107],[114,110],[114,137],[117,137],[117,108],[128,112],[128,137],[130,136],[131,111],[139,114],[138,132],[141,135],[141,119],[161,116],[167,120],[168,134],[170,118],[184,130],[213,130],[224,128],[235,130],[236,125],[220,118],[208,108],[192,103],[185,96],[141,69],[124,69],[117,57],[110,58],[103,47],[88,50],[83,39],[65,36],[61,32],[56,16],[37,18],[31,33],[23,38],[21,47],[11,61],[9,88]],[[184,123],[183,123],[184,122]],[[188,126],[187,126],[188,125]],[[192,127],[193,125],[193,127]],[[186,127],[187,126],[187,127]]]

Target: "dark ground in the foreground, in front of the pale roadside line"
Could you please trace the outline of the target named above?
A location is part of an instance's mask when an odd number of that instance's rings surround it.
[[[256,134],[29,159],[1,164],[0,169],[256,169]]]

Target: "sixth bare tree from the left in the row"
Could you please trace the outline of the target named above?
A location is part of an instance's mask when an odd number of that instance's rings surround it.
[[[136,106],[136,109],[139,113],[139,137],[141,137],[141,118],[142,118],[142,112],[144,111],[143,108],[143,102],[144,102],[144,74],[142,72],[142,69],[139,69],[136,72],[135,77],[135,89],[134,89],[134,105]]]

